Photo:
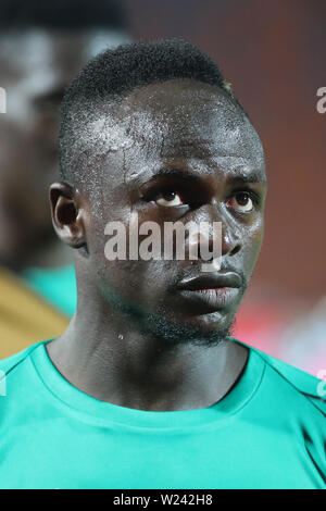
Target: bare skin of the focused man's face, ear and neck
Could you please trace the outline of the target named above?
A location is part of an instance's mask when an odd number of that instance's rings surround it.
[[[261,142],[225,91],[193,80],[133,91],[114,115],[103,105],[116,129],[93,128],[108,152],[89,167],[90,183],[51,186],[54,228],[76,249],[78,306],[47,349],[68,382],[99,400],[148,411],[205,408],[231,389],[248,360],[226,335],[263,239]],[[200,275],[200,260],[108,261],[104,226],[120,220],[127,227],[131,212],[162,227],[222,222],[220,273],[241,282],[233,299],[214,307],[177,289]]]

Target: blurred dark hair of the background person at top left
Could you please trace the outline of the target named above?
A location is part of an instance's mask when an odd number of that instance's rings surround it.
[[[0,0],[0,29],[127,29],[121,0]]]

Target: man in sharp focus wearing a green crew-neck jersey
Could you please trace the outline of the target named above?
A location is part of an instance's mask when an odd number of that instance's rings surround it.
[[[77,311],[0,364],[0,486],[325,488],[323,382],[230,337],[266,174],[216,64],[179,40],[105,51],[65,95],[60,162],[50,199]],[[201,239],[190,258],[190,235],[184,258],[109,257],[117,225],[139,253],[136,214],[160,233],[221,222],[220,267],[203,272]]]

